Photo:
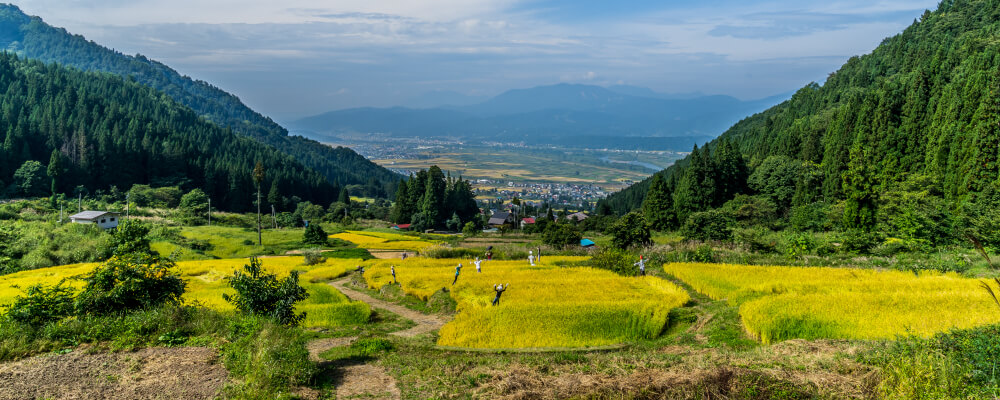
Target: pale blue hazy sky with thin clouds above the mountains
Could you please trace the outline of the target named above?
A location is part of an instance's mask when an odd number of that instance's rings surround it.
[[[28,0],[277,120],[559,82],[749,99],[822,81],[928,0]]]

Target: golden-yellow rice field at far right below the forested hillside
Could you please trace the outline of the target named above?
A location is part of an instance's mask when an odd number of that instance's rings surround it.
[[[763,343],[929,337],[1000,322],[979,281],[957,274],[696,263],[663,269],[739,305],[745,329]]]

